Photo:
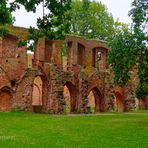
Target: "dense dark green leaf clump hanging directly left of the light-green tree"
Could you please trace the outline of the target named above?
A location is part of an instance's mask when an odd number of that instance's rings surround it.
[[[71,0],[47,0],[45,7],[50,12],[39,18],[37,25],[49,39],[63,39],[66,33],[69,33],[70,16],[67,11],[71,9]]]

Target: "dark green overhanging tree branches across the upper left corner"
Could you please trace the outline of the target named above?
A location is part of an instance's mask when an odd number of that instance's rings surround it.
[[[43,36],[49,39],[63,39],[64,35],[69,33],[70,30],[70,17],[66,12],[71,9],[71,0],[14,0],[13,2],[1,0],[0,25],[2,25],[3,28],[0,29],[0,36],[8,32],[4,28],[5,25],[12,24],[13,22],[11,12],[20,9],[20,6],[24,6],[27,12],[32,11],[35,13],[36,7],[41,3],[43,5],[43,17],[37,19],[38,29],[30,27],[30,34],[27,39],[20,40],[18,46],[20,47],[31,43],[28,49],[34,50],[37,40]],[[44,13],[44,9],[48,10],[48,14]]]

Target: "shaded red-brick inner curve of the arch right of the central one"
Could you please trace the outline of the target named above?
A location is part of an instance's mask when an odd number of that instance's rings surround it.
[[[91,88],[88,91],[87,96],[90,94],[90,92],[92,92],[94,95],[95,112],[103,112],[104,111],[103,94],[101,93],[101,91],[97,87]],[[89,103],[89,100],[88,100],[88,103]],[[89,107],[89,104],[87,106]]]

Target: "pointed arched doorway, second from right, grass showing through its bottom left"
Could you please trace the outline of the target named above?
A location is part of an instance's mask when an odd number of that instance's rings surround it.
[[[103,98],[99,89],[97,87],[91,89],[88,94],[88,104],[87,104],[88,112],[90,113],[102,112],[104,109],[102,101]]]

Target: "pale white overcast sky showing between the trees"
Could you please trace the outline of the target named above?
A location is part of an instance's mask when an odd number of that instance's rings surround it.
[[[128,17],[128,11],[131,9],[131,3],[133,0],[96,0],[101,1],[108,8],[108,12],[112,13],[114,19],[117,18],[121,22],[130,23],[131,20]],[[36,26],[36,18],[42,16],[42,7],[39,6],[37,12],[26,13],[26,11],[21,8],[17,12],[13,13],[16,18],[15,26],[29,27]]]

